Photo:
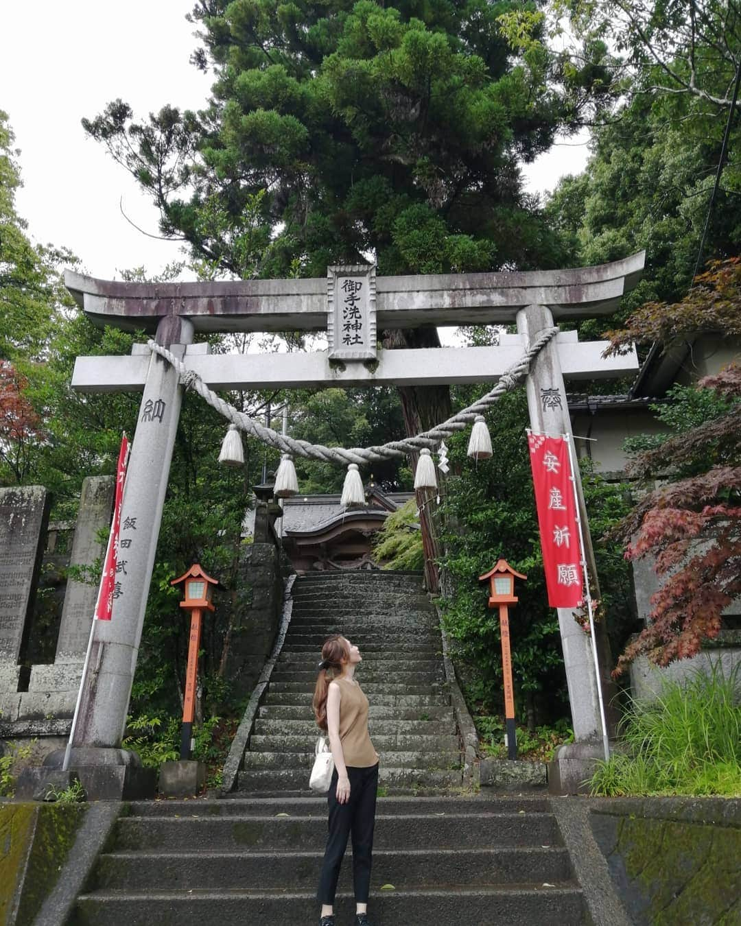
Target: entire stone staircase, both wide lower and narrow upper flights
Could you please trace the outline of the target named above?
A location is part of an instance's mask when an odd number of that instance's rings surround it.
[[[242,793],[126,807],[78,896],[71,926],[311,926],[327,833],[326,797],[307,795],[320,645],[335,631],[364,656],[381,754],[374,926],[571,926],[585,921],[547,797],[464,795],[441,638],[420,579],[307,576],[255,721]],[[449,793],[446,794],[445,791]],[[249,795],[246,794],[249,792]],[[419,796],[433,792],[433,796]],[[414,794],[415,796],[409,796]],[[348,846],[335,906],[349,923]]]

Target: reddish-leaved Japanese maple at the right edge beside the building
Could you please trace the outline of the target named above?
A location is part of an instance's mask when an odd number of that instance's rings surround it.
[[[610,351],[631,340],[663,344],[692,332],[741,332],[741,258],[714,261],[683,302],[650,303],[609,332]],[[620,675],[638,655],[659,666],[694,656],[722,628],[722,611],[741,594],[741,369],[697,382],[721,400],[720,413],[636,457],[639,478],[668,480],[647,493],[612,532],[630,559],[653,556],[663,583],[647,627],[618,660]]]

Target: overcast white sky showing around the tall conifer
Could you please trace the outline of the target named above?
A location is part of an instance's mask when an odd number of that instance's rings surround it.
[[[189,62],[197,41],[185,21],[193,0],[0,0],[0,109],[20,149],[24,186],[19,214],[39,242],[68,246],[85,272],[103,279],[120,269],[157,272],[179,256],[179,244],[157,234],[157,210],[80,120],[121,97],[138,116],[165,103],[197,109],[211,78]],[[581,141],[581,144],[579,144]],[[574,144],[576,143],[576,144]],[[584,169],[584,140],[559,144],[526,169],[532,190],[553,189]]]

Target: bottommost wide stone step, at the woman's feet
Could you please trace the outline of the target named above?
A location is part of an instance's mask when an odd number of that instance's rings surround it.
[[[442,926],[443,923],[496,923],[497,926],[575,926],[584,922],[584,901],[576,885],[552,888],[471,887],[383,891],[372,898],[374,926]],[[351,894],[337,895],[335,917],[349,922],[355,910]],[[314,923],[314,891],[144,891],[97,892],[78,898],[75,926],[295,926]]]

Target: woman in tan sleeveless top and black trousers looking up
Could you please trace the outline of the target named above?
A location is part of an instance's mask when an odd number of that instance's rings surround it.
[[[378,753],[368,734],[368,698],[355,680],[355,669],[361,661],[358,647],[339,634],[331,636],[321,647],[313,707],[317,725],[329,734],[334,772],[327,795],[329,835],[317,891],[321,904],[320,926],[334,926],[334,894],[350,833],[353,838],[355,923],[356,926],[371,926],[367,910]]]

